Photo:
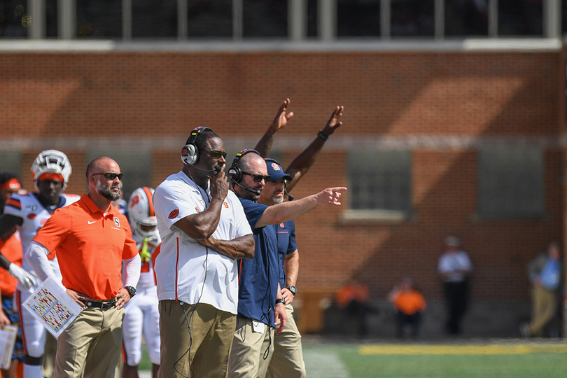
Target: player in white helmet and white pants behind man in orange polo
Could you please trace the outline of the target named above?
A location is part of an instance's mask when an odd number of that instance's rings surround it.
[[[142,335],[146,340],[148,355],[153,365],[154,378],[158,377],[160,368],[160,314],[153,261],[159,253],[162,240],[156,228],[158,221],[153,211],[152,196],[152,188],[146,186],[137,188],[132,192],[127,207],[132,237],[136,241],[141,257],[141,272],[136,295],[124,307],[123,378],[138,377]]]

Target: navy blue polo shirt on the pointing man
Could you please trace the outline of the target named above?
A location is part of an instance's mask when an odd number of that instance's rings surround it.
[[[243,258],[239,263],[238,314],[275,327],[274,305],[280,274],[276,225],[255,228],[267,206],[240,197],[239,200],[254,235],[255,252],[253,259]]]

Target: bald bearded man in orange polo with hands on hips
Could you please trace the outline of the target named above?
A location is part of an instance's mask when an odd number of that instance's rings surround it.
[[[55,377],[78,378],[84,370],[84,377],[111,378],[120,359],[123,307],[136,293],[141,262],[126,217],[111,205],[120,197],[120,167],[97,158],[86,176],[88,194],[55,211],[26,258],[40,279],[55,279],[48,255],[57,253],[62,286],[85,307],[57,339]]]

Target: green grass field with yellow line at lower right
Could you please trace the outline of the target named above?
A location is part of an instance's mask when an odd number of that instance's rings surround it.
[[[475,342],[364,344],[304,342],[309,378],[540,378],[565,377],[567,344]],[[149,370],[147,356],[140,370]]]

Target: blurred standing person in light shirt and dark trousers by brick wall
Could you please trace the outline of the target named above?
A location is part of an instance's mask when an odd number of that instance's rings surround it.
[[[461,251],[461,240],[449,236],[445,239],[445,253],[439,259],[437,271],[444,285],[444,297],[447,301],[449,318],[446,329],[449,335],[461,333],[461,319],[468,305],[468,279],[472,264],[465,251]]]

